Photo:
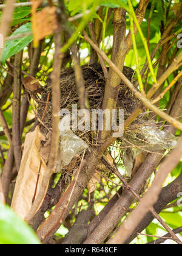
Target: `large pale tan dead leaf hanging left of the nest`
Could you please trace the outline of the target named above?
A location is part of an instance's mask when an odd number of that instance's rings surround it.
[[[45,137],[40,132],[38,126],[34,132],[27,133],[25,138],[24,152],[22,155],[18,177],[16,179],[15,193],[13,194],[12,200],[12,209],[22,219],[27,216],[30,208],[32,207],[32,200],[35,196],[35,191],[36,196],[38,195],[42,178],[47,169],[44,160],[39,154],[41,140],[45,140]]]

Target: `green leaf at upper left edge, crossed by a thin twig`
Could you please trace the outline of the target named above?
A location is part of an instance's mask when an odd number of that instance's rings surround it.
[[[32,32],[32,24],[26,23],[16,29],[16,31],[11,35],[11,37],[18,35],[18,34],[24,34]],[[2,65],[5,64],[5,61],[15,55],[17,52],[24,49],[25,46],[27,46],[31,41],[33,40],[33,35],[27,35],[25,37],[21,37],[15,40],[7,41],[5,44],[4,50],[2,52],[1,62]]]

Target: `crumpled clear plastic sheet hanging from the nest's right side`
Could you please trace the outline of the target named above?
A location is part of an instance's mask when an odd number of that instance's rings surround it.
[[[122,158],[126,175],[132,176],[133,163],[141,152],[161,152],[170,150],[177,145],[177,138],[167,130],[160,130],[154,120],[141,126],[138,132],[132,132],[123,137]],[[128,148],[129,147],[129,148]]]

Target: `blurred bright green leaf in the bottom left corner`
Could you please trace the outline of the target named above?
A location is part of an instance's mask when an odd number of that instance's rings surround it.
[[[25,222],[7,206],[0,204],[0,244],[40,244]]]

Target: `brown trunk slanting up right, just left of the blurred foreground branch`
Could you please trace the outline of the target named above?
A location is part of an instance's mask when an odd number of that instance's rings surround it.
[[[179,116],[181,116],[181,114],[179,115],[179,113],[181,113],[182,111],[181,93],[182,89],[178,94],[178,98],[174,104],[174,108],[171,113],[171,115],[177,119],[180,119]],[[173,126],[169,126],[166,129],[174,133],[176,130]],[[149,154],[146,162],[143,163],[141,168],[138,170],[138,172],[136,172],[135,176],[129,183],[129,185],[136,193],[140,193],[141,189],[144,187],[146,180],[149,179],[152,172],[155,171],[160,161],[161,155]],[[107,236],[109,236],[110,232],[114,229],[116,224],[118,224],[120,219],[124,215],[126,215],[126,212],[134,199],[135,197],[130,191],[124,190],[120,199],[118,199],[116,204],[112,207],[112,209],[105,216],[105,218],[102,219],[101,223],[98,225],[98,227],[96,227],[96,229],[92,232],[92,234],[85,241],[85,243],[103,243],[104,240],[106,240]]]

